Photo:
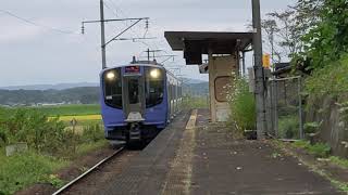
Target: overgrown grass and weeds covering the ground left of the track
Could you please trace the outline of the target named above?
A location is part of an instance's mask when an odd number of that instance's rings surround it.
[[[67,108],[63,109],[67,114]],[[49,113],[50,116],[57,114],[53,108]],[[76,157],[107,144],[100,120],[82,123],[77,131],[69,127],[70,122],[49,117],[42,110],[0,108],[0,194],[14,194],[34,183],[62,185],[65,181],[54,172]],[[27,150],[7,156],[5,146],[18,143],[25,143]]]

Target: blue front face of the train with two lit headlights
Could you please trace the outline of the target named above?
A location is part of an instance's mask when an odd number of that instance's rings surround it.
[[[107,139],[140,141],[165,127],[165,74],[158,65],[129,65],[101,73],[101,114]]]

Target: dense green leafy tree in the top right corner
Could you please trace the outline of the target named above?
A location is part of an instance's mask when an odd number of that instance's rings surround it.
[[[348,52],[348,1],[324,0],[315,26],[303,36],[304,52],[312,68],[323,68]]]

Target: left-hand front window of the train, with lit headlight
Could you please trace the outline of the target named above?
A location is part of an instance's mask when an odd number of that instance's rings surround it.
[[[107,105],[122,109],[121,69],[115,68],[103,74],[104,101]]]

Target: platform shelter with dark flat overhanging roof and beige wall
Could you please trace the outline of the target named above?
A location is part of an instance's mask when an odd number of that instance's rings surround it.
[[[245,53],[252,43],[252,32],[165,31],[173,51],[183,51],[186,65],[200,66],[209,74],[210,117],[212,122],[229,116],[227,94],[233,76],[245,69]],[[203,55],[208,62],[203,63]],[[241,65],[240,65],[241,64]]]

